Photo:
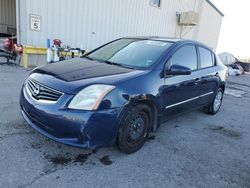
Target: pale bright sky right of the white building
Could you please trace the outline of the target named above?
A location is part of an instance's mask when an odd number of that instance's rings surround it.
[[[237,58],[250,58],[250,1],[211,0],[211,2],[225,14],[217,53],[230,52]]]

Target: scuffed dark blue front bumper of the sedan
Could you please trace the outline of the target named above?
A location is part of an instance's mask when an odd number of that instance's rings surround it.
[[[112,145],[119,128],[122,108],[82,111],[66,108],[71,95],[56,104],[41,104],[22,89],[21,113],[26,122],[42,135],[71,146],[97,148]]]

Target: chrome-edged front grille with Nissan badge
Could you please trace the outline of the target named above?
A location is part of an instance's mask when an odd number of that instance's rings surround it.
[[[56,102],[63,94],[31,78],[27,81],[26,88],[34,99],[47,102]]]

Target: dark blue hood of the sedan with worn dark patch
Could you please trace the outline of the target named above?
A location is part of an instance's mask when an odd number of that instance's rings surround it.
[[[36,68],[30,76],[48,87],[75,94],[91,84],[116,85],[144,73],[142,70],[75,58]]]

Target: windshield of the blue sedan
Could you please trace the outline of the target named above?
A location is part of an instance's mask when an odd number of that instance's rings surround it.
[[[171,42],[120,39],[86,57],[131,68],[148,68],[172,45]]]

